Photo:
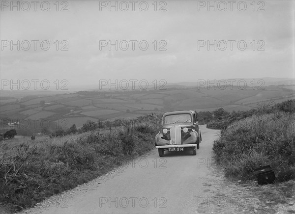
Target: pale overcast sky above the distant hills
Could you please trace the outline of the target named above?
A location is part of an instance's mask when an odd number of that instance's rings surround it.
[[[1,80],[294,78],[294,0],[12,4],[1,1]]]

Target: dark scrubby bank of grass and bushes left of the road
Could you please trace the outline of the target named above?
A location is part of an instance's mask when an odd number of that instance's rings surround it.
[[[0,201],[15,210],[29,208],[64,190],[88,182],[154,148],[161,117],[150,114],[121,121],[115,129],[86,124],[67,136],[41,142],[0,145]]]

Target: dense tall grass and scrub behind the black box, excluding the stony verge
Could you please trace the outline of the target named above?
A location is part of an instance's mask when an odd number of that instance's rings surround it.
[[[225,166],[226,176],[251,180],[255,178],[255,168],[269,164],[278,182],[294,179],[294,111],[295,100],[290,100],[222,117],[221,121],[230,125],[223,130],[220,139],[214,142],[213,151],[217,162]],[[245,117],[247,114],[250,116]],[[242,117],[245,118],[240,119]]]

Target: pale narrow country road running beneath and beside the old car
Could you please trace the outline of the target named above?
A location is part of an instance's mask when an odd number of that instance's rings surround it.
[[[196,156],[191,151],[165,152],[159,158],[157,150],[153,150],[27,212],[236,213],[235,207],[214,202],[212,194],[222,191],[223,178],[207,164],[212,161],[212,144],[219,131],[201,128],[203,141]]]

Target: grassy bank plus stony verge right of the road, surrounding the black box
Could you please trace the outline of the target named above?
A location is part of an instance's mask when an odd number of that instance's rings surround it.
[[[291,100],[231,113],[210,124],[223,128],[213,144],[215,160],[229,181],[241,180],[244,187],[250,187],[250,196],[259,199],[256,213],[295,213],[294,111],[295,100]],[[275,182],[257,185],[254,169],[268,164],[275,172]]]

